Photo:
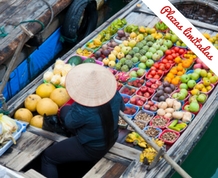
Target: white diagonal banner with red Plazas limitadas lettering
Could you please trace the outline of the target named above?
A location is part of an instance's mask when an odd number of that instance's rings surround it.
[[[218,50],[168,0],[142,0],[216,75]]]

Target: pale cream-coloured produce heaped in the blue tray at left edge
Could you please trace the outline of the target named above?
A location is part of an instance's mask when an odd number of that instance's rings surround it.
[[[13,133],[18,129],[17,123],[14,119],[0,114],[0,147],[4,146],[7,141],[12,140],[16,144],[13,138]]]

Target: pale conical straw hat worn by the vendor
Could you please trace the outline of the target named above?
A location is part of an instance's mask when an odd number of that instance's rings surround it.
[[[105,67],[83,63],[73,67],[66,76],[66,90],[70,97],[84,106],[100,106],[116,93],[117,82]]]

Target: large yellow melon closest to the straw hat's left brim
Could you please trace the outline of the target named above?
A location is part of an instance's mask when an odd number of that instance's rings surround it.
[[[70,100],[70,96],[65,88],[54,89],[50,94],[50,98],[58,105],[58,107],[63,106]]]

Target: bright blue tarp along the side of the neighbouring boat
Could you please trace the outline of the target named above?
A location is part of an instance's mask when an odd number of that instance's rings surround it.
[[[3,90],[6,101],[15,96],[55,61],[56,55],[63,48],[59,39],[60,28],[11,72]]]

